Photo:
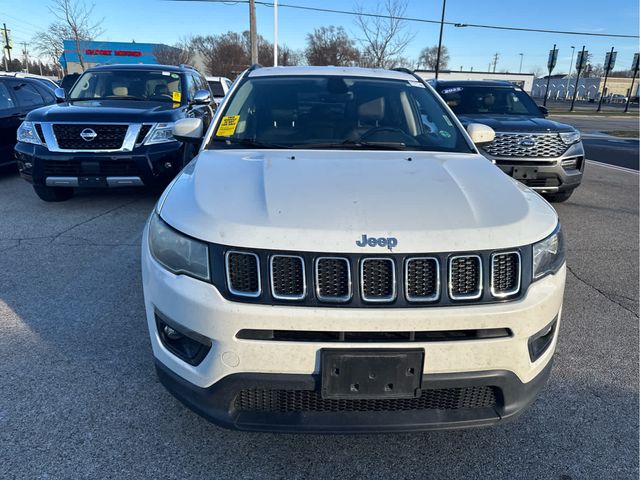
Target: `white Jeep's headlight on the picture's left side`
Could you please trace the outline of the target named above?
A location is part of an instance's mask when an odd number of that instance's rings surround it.
[[[209,280],[207,245],[178,233],[155,212],[149,221],[149,248],[167,270]]]

